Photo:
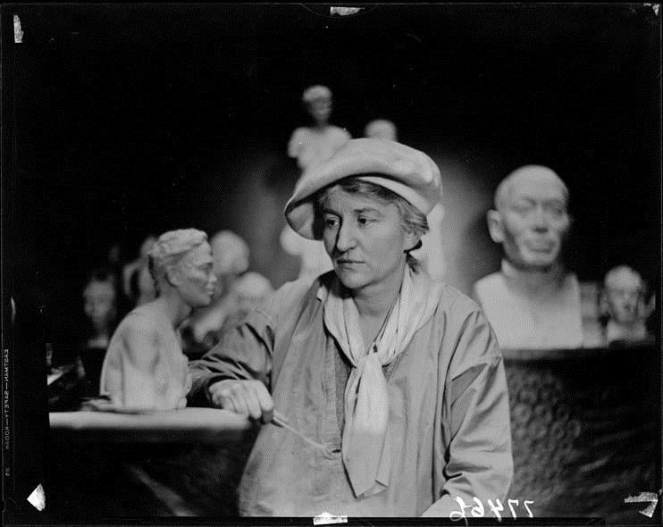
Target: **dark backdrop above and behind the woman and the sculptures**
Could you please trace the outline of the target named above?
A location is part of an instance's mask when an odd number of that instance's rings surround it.
[[[40,328],[80,312],[85,272],[115,242],[132,258],[148,232],[235,230],[256,271],[275,286],[294,278],[296,261],[278,245],[298,175],[285,145],[306,123],[299,97],[315,83],[332,88],[332,121],[353,137],[386,117],[439,162],[448,276],[459,289],[497,269],[483,213],[499,180],[525,163],[566,180],[567,263],[581,280],[628,263],[658,287],[660,23],[650,7],[328,13],[2,6],[4,325],[13,296],[21,354],[40,364]],[[29,376],[18,358],[16,375]]]

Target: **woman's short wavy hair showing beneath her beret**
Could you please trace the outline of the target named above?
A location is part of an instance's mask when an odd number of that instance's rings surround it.
[[[380,174],[362,175],[371,176]],[[370,181],[360,180],[357,176],[344,178],[333,183],[329,187],[320,190],[315,200],[316,214],[321,215],[323,204],[329,196],[330,191],[332,188],[337,187],[348,192],[348,194],[357,194],[361,197],[377,199],[382,203],[392,203],[396,205],[400,213],[400,224],[406,232],[414,233],[418,236],[424,236],[429,230],[426,215],[416,208],[415,205],[409,203],[404,197],[400,197],[395,192],[392,192],[389,188],[384,188]]]

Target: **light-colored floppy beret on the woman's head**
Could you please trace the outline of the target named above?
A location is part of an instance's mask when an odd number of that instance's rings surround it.
[[[327,161],[302,174],[285,207],[290,227],[315,239],[315,193],[349,176],[389,188],[424,214],[442,196],[440,169],[424,152],[387,139],[351,139]]]

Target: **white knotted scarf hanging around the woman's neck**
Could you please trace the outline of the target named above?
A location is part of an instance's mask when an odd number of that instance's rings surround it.
[[[341,289],[337,278],[324,302],[324,324],[352,364],[345,389],[342,445],[348,477],[359,498],[381,492],[390,480],[389,392],[382,366],[392,363],[429,321],[442,285],[406,265],[399,297],[369,349],[365,348],[357,305],[351,297],[341,297]]]

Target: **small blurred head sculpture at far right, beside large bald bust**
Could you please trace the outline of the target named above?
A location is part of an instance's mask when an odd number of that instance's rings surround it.
[[[607,317],[606,343],[642,342],[650,339],[646,322],[655,298],[645,303],[645,287],[640,274],[626,265],[606,273],[603,280],[602,311]]]

